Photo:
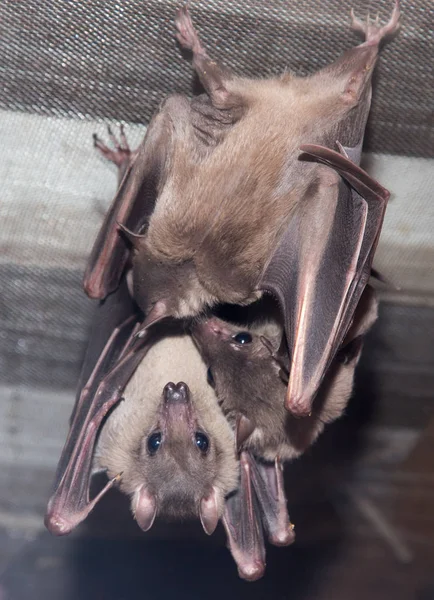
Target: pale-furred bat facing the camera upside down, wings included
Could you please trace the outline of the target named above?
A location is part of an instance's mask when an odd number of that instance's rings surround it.
[[[286,499],[275,506],[282,497],[275,496],[273,480],[264,480],[256,498],[250,472],[260,481],[264,469],[246,452],[240,477],[234,430],[191,337],[166,324],[134,354],[138,316],[125,282],[98,309],[46,526],[56,535],[70,533],[117,485],[144,531],[157,515],[198,517],[207,534],[222,519],[240,575],[258,579],[265,570],[263,519],[278,512],[289,524]],[[90,500],[98,471],[109,482]],[[276,481],[283,490],[281,473]]]

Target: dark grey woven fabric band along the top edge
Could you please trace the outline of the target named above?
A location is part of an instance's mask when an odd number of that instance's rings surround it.
[[[433,156],[433,5],[403,0],[403,30],[384,50],[366,149]],[[0,106],[72,118],[147,122],[192,71],[174,38],[173,0],[3,0]],[[191,3],[213,56],[235,72],[298,74],[357,40],[349,11],[387,18],[388,0],[207,0]]]

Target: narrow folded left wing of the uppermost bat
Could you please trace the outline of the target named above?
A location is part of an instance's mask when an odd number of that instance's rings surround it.
[[[84,288],[91,298],[105,298],[119,285],[127,264],[129,246],[119,234],[118,224],[133,232],[141,231],[147,224],[165,177],[168,157],[173,151],[171,119],[182,118],[182,108],[177,109],[185,102],[181,97],[169,98],[151,120],[142,144],[131,154],[129,162],[120,167],[124,175],[98,233],[84,275]]]

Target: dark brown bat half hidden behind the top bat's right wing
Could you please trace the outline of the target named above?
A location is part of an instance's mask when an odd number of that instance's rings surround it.
[[[364,336],[376,320],[377,312],[374,290],[367,286],[343,346],[313,402],[312,412],[303,419],[284,409],[287,357],[282,328],[276,322],[265,320],[241,327],[211,317],[192,327],[193,339],[209,365],[208,378],[234,427],[241,452],[242,476],[237,495],[239,505],[247,506],[248,510],[242,512],[239,506],[235,507],[232,523],[225,520],[223,523],[229,532],[232,524],[235,536],[234,522],[242,525],[239,533],[251,533],[232,554],[239,565],[248,565],[255,575],[260,576],[261,565],[265,566],[258,515],[269,541],[287,545],[294,540],[286,507],[282,461],[302,454],[326,423],[342,415],[351,396]],[[267,313],[263,311],[263,314]]]

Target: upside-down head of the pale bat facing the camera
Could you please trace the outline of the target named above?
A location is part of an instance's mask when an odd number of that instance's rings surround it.
[[[109,475],[122,472],[120,487],[144,531],[157,515],[199,517],[208,534],[214,531],[239,467],[232,430],[213,401],[201,410],[185,383],[168,383],[152,408],[143,405],[146,418],[125,409],[103,431],[98,462]]]

